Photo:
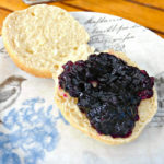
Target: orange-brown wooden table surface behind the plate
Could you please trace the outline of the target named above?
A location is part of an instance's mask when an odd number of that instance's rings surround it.
[[[121,16],[150,28],[164,38],[164,0],[60,0],[49,4],[67,11],[93,11]],[[27,7],[22,0],[0,0],[0,31],[9,13]]]

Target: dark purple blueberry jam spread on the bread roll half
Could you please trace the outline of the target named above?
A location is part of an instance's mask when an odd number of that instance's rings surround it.
[[[140,102],[153,96],[154,78],[107,52],[62,68],[59,86],[78,98],[92,127],[113,138],[129,137],[139,120]]]

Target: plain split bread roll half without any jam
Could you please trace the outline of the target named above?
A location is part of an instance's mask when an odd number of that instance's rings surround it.
[[[62,60],[93,51],[84,27],[63,9],[47,4],[9,14],[2,38],[17,67],[43,78],[51,78],[51,67],[57,70]]]

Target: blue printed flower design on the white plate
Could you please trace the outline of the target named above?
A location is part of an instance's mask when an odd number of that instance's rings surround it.
[[[55,150],[60,139],[57,120],[69,124],[60,112],[55,117],[52,105],[45,107],[44,103],[40,97],[27,99],[3,117],[3,126],[12,132],[0,132],[0,164],[36,164],[44,160],[46,152]],[[22,160],[15,150],[22,150]]]

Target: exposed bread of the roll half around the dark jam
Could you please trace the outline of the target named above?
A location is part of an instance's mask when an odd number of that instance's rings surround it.
[[[127,61],[129,66],[137,66],[134,62],[132,62],[127,56],[125,56],[121,52],[114,52],[118,58],[124,59]],[[59,70],[58,74],[62,72],[62,69]],[[128,138],[113,138],[110,136],[99,134],[97,131],[92,128],[90,120],[86,118],[85,114],[81,113],[79,107],[77,106],[78,98],[71,97],[68,93],[66,93],[58,85],[58,79],[57,75],[54,74],[55,79],[55,102],[59,109],[61,110],[65,118],[75,128],[83,131],[87,136],[103,141],[107,144],[122,144],[130,142],[139,137],[143,128],[148,122],[151,121],[152,117],[155,115],[157,110],[157,95],[155,89],[153,97],[149,99],[141,101],[141,104],[138,108],[139,113],[139,121],[136,121],[136,126],[132,130],[132,134]],[[63,96],[66,94],[67,96]]]

